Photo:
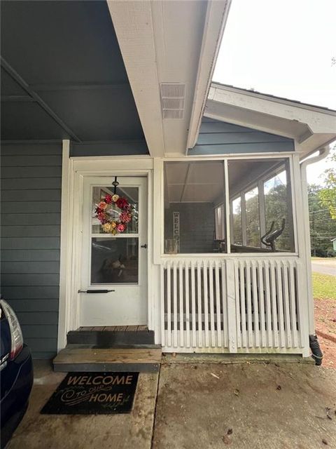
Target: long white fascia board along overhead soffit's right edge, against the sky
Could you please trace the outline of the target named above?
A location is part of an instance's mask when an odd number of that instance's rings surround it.
[[[217,55],[221,47],[221,41],[228,20],[231,0],[209,0],[207,17],[204,24],[202,48],[197,70],[197,80],[191,113],[187,149],[193,148],[197,142],[204,107],[207,102],[211,79],[214,74]]]

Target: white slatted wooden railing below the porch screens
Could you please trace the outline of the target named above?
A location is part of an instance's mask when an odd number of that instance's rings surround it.
[[[167,258],[161,286],[164,351],[307,348],[306,289],[295,257]]]

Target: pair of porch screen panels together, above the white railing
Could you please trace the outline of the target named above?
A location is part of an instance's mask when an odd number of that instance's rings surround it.
[[[165,162],[165,253],[294,252],[291,197],[288,158]]]

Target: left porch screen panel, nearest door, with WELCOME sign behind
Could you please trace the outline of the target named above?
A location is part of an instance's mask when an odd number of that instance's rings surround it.
[[[165,163],[165,253],[225,250],[223,161]]]

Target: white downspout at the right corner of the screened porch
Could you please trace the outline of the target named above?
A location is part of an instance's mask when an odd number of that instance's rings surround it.
[[[315,157],[305,159],[300,163],[301,172],[301,193],[302,193],[302,208],[303,208],[303,227],[304,227],[304,239],[305,239],[305,262],[306,262],[306,274],[307,274],[307,308],[308,308],[308,330],[309,335],[315,334],[315,321],[314,321],[314,298],[311,282],[311,246],[310,246],[310,230],[309,230],[309,205],[307,194],[307,166],[311,163],[321,161],[328,156],[330,147],[323,147],[319,149],[319,154]]]

